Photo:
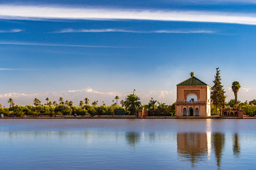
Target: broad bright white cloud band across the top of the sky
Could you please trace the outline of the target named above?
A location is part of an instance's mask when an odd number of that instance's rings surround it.
[[[0,5],[0,18],[9,20],[87,19],[189,21],[256,25],[255,13],[163,11],[117,8],[68,8],[62,6]]]

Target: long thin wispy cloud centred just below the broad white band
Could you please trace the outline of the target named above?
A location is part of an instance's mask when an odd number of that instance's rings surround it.
[[[215,33],[213,30],[125,30],[125,29],[80,29],[67,28],[54,33]]]

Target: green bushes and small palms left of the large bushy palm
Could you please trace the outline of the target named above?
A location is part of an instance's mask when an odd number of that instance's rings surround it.
[[[85,98],[84,101],[80,101],[79,106],[73,106],[73,101],[64,101],[63,97],[60,97],[59,102],[51,102],[49,98],[46,98],[46,103],[43,105],[38,98],[33,100],[33,105],[20,106],[15,105],[14,99],[9,98],[9,108],[4,108],[0,104],[0,113],[5,116],[56,116],[56,115],[114,115],[114,110],[124,109],[124,107],[114,103],[112,106],[106,106],[105,103],[102,106],[97,106],[98,101],[93,101],[92,105],[89,104],[89,98]],[[130,114],[127,110],[126,114]]]

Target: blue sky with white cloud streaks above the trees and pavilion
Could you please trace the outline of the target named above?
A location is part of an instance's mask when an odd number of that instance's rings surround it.
[[[85,97],[112,104],[135,89],[171,104],[176,84],[195,72],[213,86],[239,81],[255,99],[254,0],[0,0],[0,103]],[[118,102],[119,103],[119,102]]]

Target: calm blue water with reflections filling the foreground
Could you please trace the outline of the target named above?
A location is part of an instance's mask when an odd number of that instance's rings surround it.
[[[0,169],[255,169],[256,120],[0,120]]]

